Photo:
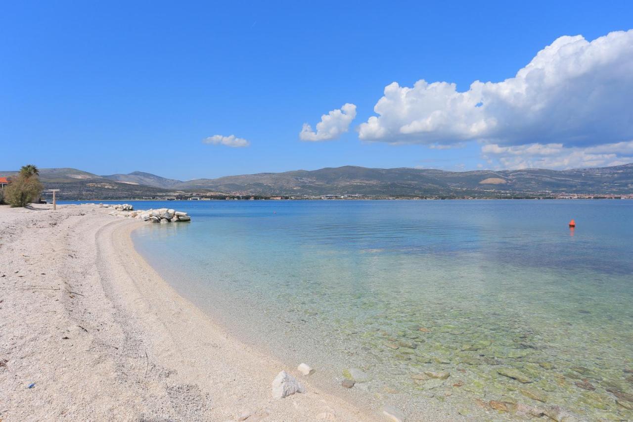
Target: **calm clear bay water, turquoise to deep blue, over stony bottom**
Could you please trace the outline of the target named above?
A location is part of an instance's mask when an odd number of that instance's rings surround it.
[[[621,395],[633,393],[633,201],[135,206],[192,215],[134,233],[180,293],[323,382],[361,369],[370,379],[354,389],[413,419],[428,407],[513,419],[512,403],[633,419]],[[414,379],[425,371],[450,376]]]

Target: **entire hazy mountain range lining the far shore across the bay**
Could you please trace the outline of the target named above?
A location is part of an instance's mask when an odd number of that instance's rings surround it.
[[[15,176],[16,171],[0,172]],[[633,163],[573,170],[368,169],[344,166],[180,181],[144,172],[99,176],[77,169],[41,169],[60,198],[126,199],[177,195],[546,196],[549,193],[633,194]]]

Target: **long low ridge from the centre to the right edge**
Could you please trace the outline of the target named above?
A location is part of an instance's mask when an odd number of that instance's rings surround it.
[[[501,193],[633,193],[633,163],[577,170],[367,169],[337,167],[196,179],[179,188],[266,195],[477,195]]]

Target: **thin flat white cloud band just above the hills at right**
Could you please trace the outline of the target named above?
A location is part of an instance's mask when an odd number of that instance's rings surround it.
[[[482,154],[498,169],[579,169],[633,162],[633,141],[596,146],[566,147],[563,144],[482,146]]]

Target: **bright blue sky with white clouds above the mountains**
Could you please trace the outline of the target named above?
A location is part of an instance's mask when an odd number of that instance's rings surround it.
[[[630,1],[0,1],[0,170],[633,162]]]

